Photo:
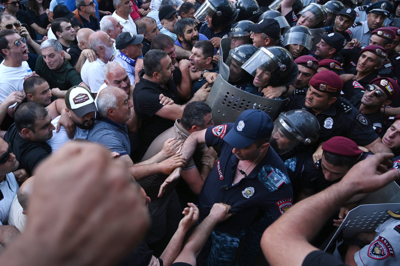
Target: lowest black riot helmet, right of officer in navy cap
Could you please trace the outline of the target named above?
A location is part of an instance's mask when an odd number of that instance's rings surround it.
[[[278,154],[284,154],[296,146],[311,146],[318,140],[320,124],[306,110],[282,112],[274,122],[270,144]]]

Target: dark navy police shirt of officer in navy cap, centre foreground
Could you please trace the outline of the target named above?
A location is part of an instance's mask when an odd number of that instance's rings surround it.
[[[231,205],[230,212],[235,215],[216,226],[216,230],[238,234],[250,226],[259,210],[268,212],[273,222],[292,206],[293,193],[286,167],[272,147],[247,177],[232,185],[239,160],[224,136],[233,126],[228,123],[206,131],[207,146],[218,146],[222,151],[200,192],[199,209],[200,219],[204,219],[214,203]]]

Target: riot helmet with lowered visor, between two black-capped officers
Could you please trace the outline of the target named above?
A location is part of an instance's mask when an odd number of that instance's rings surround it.
[[[305,47],[301,55],[307,55],[311,50],[313,40],[314,37],[309,28],[297,25],[286,32],[283,39],[283,46],[289,50],[288,45],[300,44]]]

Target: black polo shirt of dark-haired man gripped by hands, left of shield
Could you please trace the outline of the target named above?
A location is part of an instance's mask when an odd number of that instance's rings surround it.
[[[133,101],[134,110],[142,121],[142,127],[139,129],[140,144],[148,148],[159,134],[174,126],[175,123],[175,120],[156,115],[156,112],[163,107],[160,104],[160,94],[171,98],[176,104],[180,104],[180,101],[174,80],[163,88],[159,83],[143,78],[143,74],[144,70],[139,73],[140,81],[133,90]]]

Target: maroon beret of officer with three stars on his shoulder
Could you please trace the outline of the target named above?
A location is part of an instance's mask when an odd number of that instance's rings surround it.
[[[343,80],[338,74],[329,70],[323,70],[310,79],[308,84],[320,92],[339,94],[343,88]]]

